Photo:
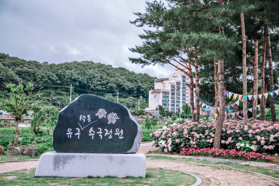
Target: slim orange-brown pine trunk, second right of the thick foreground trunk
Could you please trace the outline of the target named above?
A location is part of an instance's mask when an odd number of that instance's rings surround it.
[[[255,39],[255,58],[254,58],[254,81],[253,81],[253,95],[258,94],[258,39]],[[253,99],[253,107],[258,105],[258,96],[256,97],[256,100]],[[257,119],[257,110],[253,109],[252,116],[254,119]]]

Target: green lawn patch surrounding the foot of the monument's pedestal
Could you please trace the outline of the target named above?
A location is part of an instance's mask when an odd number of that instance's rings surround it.
[[[57,177],[34,177],[35,169],[23,171],[13,171],[0,174],[0,185],[22,185],[22,186],[41,186],[41,185],[129,185],[137,186],[188,186],[196,182],[196,178],[178,171],[147,168],[145,178],[116,178],[116,177],[86,177],[86,178],[57,178]],[[9,176],[16,176],[15,179],[7,180]]]

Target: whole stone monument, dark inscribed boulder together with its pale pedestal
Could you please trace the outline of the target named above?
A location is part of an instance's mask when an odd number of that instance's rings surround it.
[[[136,153],[139,124],[121,104],[85,94],[64,107],[53,131],[53,149],[42,154],[36,177],[145,177],[146,157]]]

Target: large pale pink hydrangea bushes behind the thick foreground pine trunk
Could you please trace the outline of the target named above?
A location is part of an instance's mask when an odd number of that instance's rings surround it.
[[[164,152],[180,152],[183,147],[210,148],[213,147],[216,124],[215,121],[173,123],[150,134],[154,138],[152,145],[160,147]],[[221,148],[275,154],[279,152],[278,136],[277,122],[251,119],[245,124],[243,120],[225,120]]]

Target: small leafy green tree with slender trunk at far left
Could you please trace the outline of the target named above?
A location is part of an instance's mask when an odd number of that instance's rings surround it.
[[[15,119],[15,141],[13,147],[17,146],[19,130],[18,123],[25,116],[28,115],[27,111],[31,110],[34,106],[35,95],[32,93],[34,85],[29,82],[25,88],[22,84],[15,85],[12,83],[6,84],[7,89],[10,90],[10,98],[0,103],[0,109],[6,111]]]

